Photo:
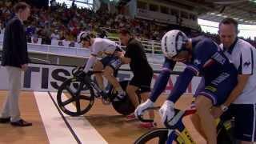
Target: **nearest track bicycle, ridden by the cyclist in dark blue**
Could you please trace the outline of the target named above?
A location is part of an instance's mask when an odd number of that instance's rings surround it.
[[[151,107],[146,110],[158,110],[159,108],[160,107]],[[174,118],[172,118],[170,122],[164,123],[166,128],[150,130],[146,134],[140,136],[134,144],[145,144],[149,142],[158,144],[195,144],[189,131],[182,122],[182,118],[194,114],[196,110],[187,108],[186,110],[174,109],[174,111]],[[138,119],[142,122],[153,122],[152,119],[144,119],[142,115],[138,115]],[[223,116],[216,119],[216,124],[218,144],[234,144],[234,138],[232,137],[234,118]]]

